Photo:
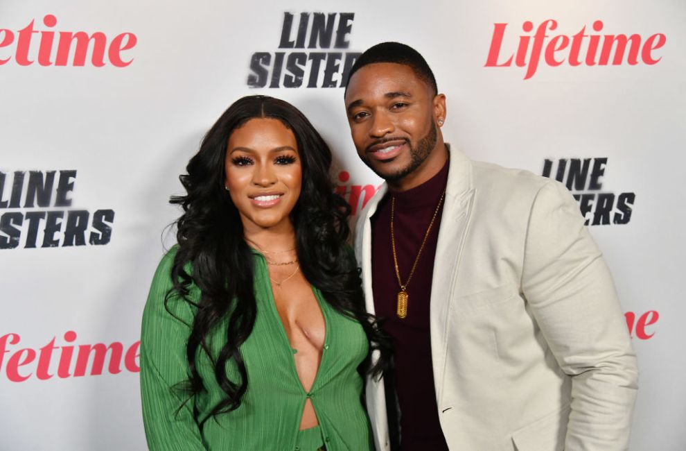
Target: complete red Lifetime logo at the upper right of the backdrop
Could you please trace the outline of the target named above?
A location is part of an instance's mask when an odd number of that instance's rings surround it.
[[[662,33],[655,33],[643,40],[641,35],[599,35],[586,33],[586,25],[581,27],[579,33],[575,35],[556,35],[550,37],[545,34],[548,30],[557,28],[557,21],[547,19],[536,28],[533,36],[522,34],[519,37],[519,44],[516,52],[503,52],[500,56],[505,40],[505,30],[507,24],[493,24],[493,37],[491,38],[491,48],[486,59],[485,67],[510,67],[512,60],[518,67],[526,67],[524,76],[528,80],[534,74],[541,62],[550,67],[563,65],[565,62],[572,66],[607,66],[607,65],[637,65],[642,61],[646,65],[656,65],[662,57],[653,55],[653,51],[660,49],[667,42],[667,37]],[[603,29],[603,22],[597,20],[593,22],[593,31],[599,32]],[[534,24],[527,20],[522,24],[525,33],[534,30]],[[533,39],[532,39],[533,38]],[[533,42],[532,42],[533,41]],[[626,47],[628,46],[628,52]],[[507,54],[509,53],[509,57]],[[507,58],[507,59],[505,59]]]

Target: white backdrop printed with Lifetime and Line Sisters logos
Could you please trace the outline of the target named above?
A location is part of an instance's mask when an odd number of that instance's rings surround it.
[[[446,140],[559,178],[613,270],[640,369],[632,450],[686,449],[686,2],[0,3],[0,449],[143,450],[139,327],[178,175],[227,105],[303,110],[359,210],[380,181],[342,79],[421,51]]]

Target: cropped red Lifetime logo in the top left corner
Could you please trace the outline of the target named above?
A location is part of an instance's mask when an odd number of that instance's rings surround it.
[[[31,20],[17,32],[0,28],[0,65],[12,60],[12,56],[3,54],[3,49],[12,49],[12,46],[14,60],[20,66],[32,65],[35,60],[31,58],[37,57],[38,65],[41,66],[82,67],[87,64],[89,49],[89,63],[94,67],[105,66],[105,58],[114,67],[127,67],[133,61],[133,58],[124,59],[122,53],[136,46],[138,38],[134,33],[120,33],[111,40],[100,31],[91,34],[85,31],[60,31],[55,36],[55,31],[35,30],[34,22],[35,20]],[[57,18],[51,14],[46,15],[43,17],[43,24],[53,28],[57,25]],[[33,39],[35,35],[39,35],[37,40]]]

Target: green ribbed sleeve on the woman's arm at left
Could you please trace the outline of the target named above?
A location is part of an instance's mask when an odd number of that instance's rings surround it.
[[[193,312],[185,300],[164,298],[171,288],[175,249],[161,260],[152,280],[141,330],[141,401],[150,450],[206,450],[193,418],[193,400],[177,389],[188,379],[186,342]],[[176,316],[176,317],[175,317]]]

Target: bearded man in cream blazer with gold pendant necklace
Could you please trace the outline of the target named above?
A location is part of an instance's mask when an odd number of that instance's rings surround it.
[[[358,58],[345,106],[385,179],[355,235],[395,347],[395,371],[367,386],[378,450],[389,427],[403,451],[626,450],[635,354],[568,190],[444,144],[446,96],[403,44]]]

